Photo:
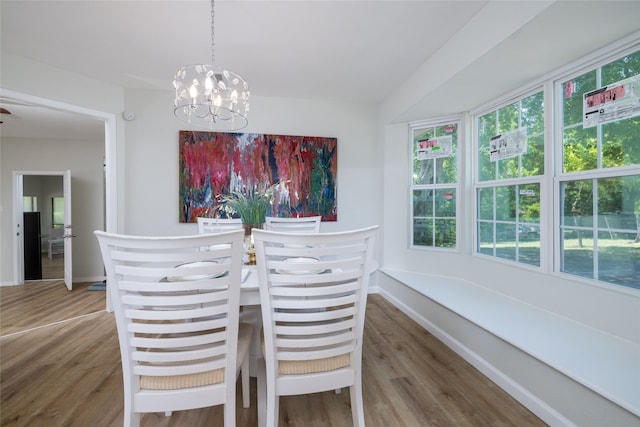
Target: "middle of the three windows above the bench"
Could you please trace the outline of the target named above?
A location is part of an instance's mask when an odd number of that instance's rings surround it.
[[[476,252],[540,266],[544,93],[475,117]]]

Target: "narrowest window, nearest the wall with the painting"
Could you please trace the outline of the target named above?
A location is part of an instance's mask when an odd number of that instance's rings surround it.
[[[457,247],[459,120],[412,125],[411,244]]]

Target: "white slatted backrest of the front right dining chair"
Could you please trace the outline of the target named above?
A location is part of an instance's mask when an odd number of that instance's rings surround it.
[[[267,364],[346,355],[360,366],[376,230],[253,231]]]

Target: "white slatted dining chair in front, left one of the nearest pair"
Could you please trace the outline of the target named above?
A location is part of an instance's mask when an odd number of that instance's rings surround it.
[[[238,321],[243,232],[95,235],[120,342],[125,427],[139,426],[141,413],[214,405],[234,426],[241,368],[249,397],[252,335]]]

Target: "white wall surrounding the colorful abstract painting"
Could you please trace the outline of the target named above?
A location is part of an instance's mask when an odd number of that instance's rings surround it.
[[[173,93],[128,90],[125,231],[131,234],[197,233],[179,223],[178,132],[189,129],[173,115]],[[249,125],[240,132],[338,139],[338,221],[323,231],[380,224],[374,105],[282,98],[251,99]]]

